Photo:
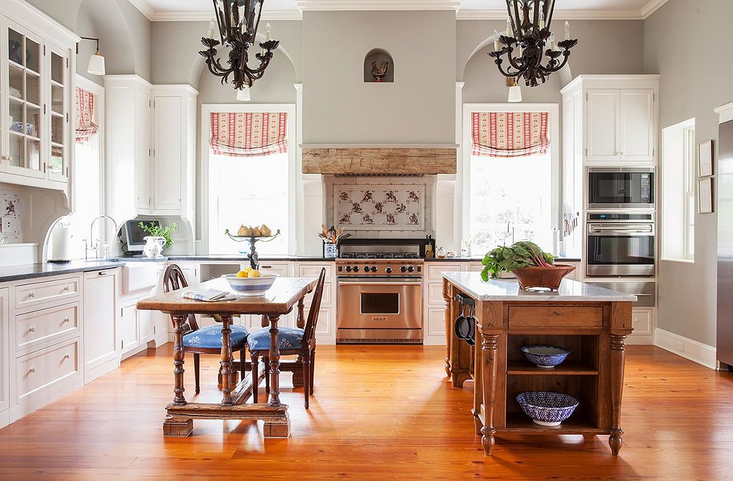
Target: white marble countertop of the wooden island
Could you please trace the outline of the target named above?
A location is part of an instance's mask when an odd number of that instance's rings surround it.
[[[523,291],[514,279],[490,279],[484,282],[479,272],[445,272],[449,282],[453,283],[469,296],[479,301],[570,301],[570,302],[635,302],[636,296],[611,291],[577,280],[564,279],[557,292]]]

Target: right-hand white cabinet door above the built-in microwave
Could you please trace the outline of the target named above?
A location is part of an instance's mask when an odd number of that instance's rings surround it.
[[[621,91],[621,160],[654,161],[654,91],[625,89]]]

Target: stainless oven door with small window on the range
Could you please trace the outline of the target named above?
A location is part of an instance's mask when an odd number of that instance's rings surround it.
[[[336,341],[421,343],[422,282],[416,278],[338,280]]]

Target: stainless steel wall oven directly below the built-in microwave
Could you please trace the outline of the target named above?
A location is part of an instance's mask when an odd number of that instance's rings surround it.
[[[588,277],[654,277],[654,214],[593,214],[586,223]]]

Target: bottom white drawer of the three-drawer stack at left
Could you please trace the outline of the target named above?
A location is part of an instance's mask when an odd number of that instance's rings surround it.
[[[23,356],[15,364],[16,403],[78,373],[78,338]]]

